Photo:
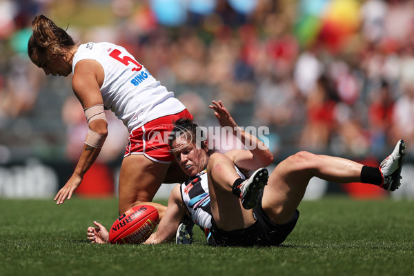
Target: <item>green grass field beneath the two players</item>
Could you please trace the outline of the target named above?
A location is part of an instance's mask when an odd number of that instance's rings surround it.
[[[273,248],[213,248],[198,228],[190,246],[89,244],[86,228],[112,225],[116,199],[0,199],[0,210],[3,276],[414,275],[413,201],[304,201]]]

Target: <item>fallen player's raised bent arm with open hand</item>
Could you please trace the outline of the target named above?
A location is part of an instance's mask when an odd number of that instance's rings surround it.
[[[217,117],[220,126],[231,130],[233,135],[240,139],[244,145],[248,145],[248,150],[230,150],[226,152],[233,163],[245,170],[257,170],[257,168],[269,166],[273,162],[273,154],[266,144],[237,126],[230,112],[221,101],[213,101],[213,104],[214,106],[209,107],[215,110],[215,117]]]

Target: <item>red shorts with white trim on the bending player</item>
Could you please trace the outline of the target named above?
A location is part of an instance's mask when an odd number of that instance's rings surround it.
[[[126,146],[124,157],[145,155],[152,161],[170,163],[174,159],[174,155],[168,146],[168,135],[174,128],[173,123],[181,118],[193,119],[193,115],[184,109],[177,114],[148,121],[143,126],[132,130],[130,137],[128,137],[128,146]]]

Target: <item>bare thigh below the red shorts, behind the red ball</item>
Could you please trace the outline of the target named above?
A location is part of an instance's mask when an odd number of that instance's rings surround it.
[[[166,206],[151,201],[163,183],[169,166],[144,155],[125,157],[119,175],[119,214],[133,206],[148,204],[157,208],[161,219]]]

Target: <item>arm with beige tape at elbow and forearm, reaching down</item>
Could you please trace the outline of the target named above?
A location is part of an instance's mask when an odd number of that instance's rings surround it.
[[[72,88],[85,110],[89,130],[75,171],[55,197],[57,204],[63,204],[66,199],[72,197],[72,193],[81,184],[83,175],[97,159],[108,135],[100,91],[103,78],[103,68],[97,61],[86,59],[79,61],[75,66]]]

